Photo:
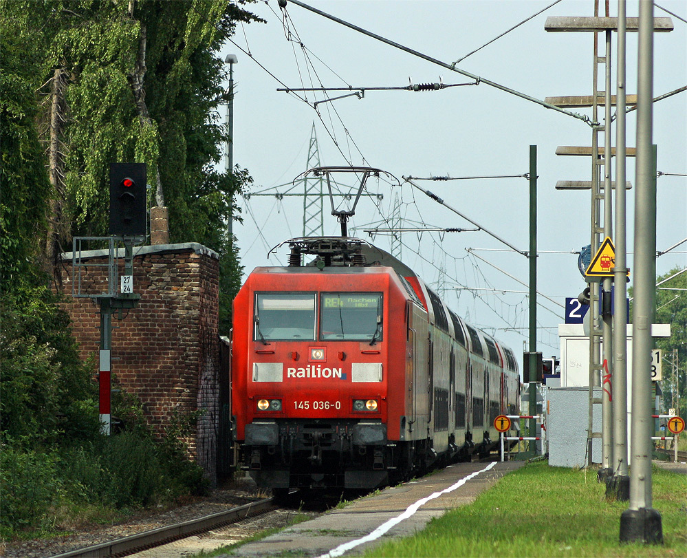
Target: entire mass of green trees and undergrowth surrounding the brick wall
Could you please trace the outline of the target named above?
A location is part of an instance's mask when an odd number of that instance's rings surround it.
[[[207,486],[177,438],[181,419],[154,443],[140,408],[114,400],[129,431],[99,436],[93,366],[80,361],[45,253],[56,219],[66,224],[56,230],[69,235],[107,235],[109,162],[146,162],[149,182],[160,175],[171,242],[199,242],[221,255],[226,332],[241,266],[223,231],[238,213],[232,197],[250,176],[238,167],[215,171],[230,140],[219,107],[231,93],[222,88],[226,69],[217,53],[238,21],[258,21],[242,6],[0,0],[3,534],[47,528],[67,504],[140,506]],[[56,114],[57,71],[67,85]],[[51,118],[61,122],[60,187],[46,172]],[[53,211],[56,200],[61,213]]]

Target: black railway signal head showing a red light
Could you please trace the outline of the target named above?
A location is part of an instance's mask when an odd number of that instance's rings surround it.
[[[109,233],[121,236],[146,234],[146,164],[110,164]]]

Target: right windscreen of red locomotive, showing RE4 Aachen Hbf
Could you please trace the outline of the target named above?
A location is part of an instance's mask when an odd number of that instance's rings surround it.
[[[320,295],[320,341],[382,341],[382,294],[323,292]]]

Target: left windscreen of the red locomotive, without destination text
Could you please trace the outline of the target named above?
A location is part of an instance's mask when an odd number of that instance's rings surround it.
[[[314,292],[259,292],[255,295],[254,340],[315,339]]]

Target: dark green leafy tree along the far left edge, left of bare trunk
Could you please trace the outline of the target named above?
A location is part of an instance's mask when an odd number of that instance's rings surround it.
[[[0,23],[7,23],[4,15]],[[95,391],[69,319],[41,266],[50,181],[38,141],[40,58],[26,30],[0,33],[1,440],[52,441],[98,431]],[[38,84],[40,85],[40,84]]]

